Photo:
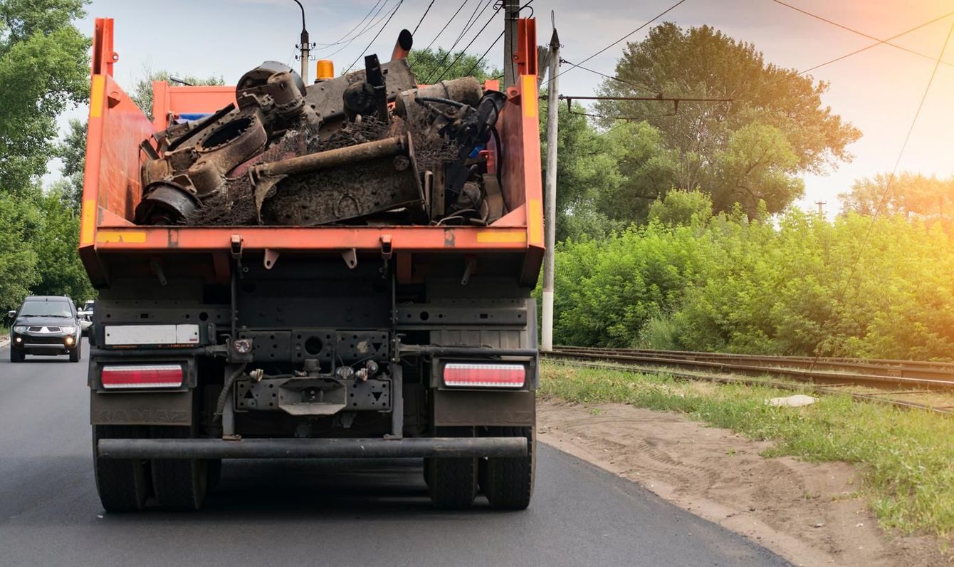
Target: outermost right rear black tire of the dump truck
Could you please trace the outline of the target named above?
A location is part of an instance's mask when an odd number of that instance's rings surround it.
[[[487,495],[491,508],[526,510],[533,496],[533,481],[536,476],[536,436],[533,434],[533,428],[492,428],[488,434],[527,438],[526,457],[488,458],[487,472],[481,478],[481,489]]]

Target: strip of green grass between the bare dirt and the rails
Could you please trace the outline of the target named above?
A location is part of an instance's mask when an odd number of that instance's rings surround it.
[[[861,469],[859,494],[885,528],[954,536],[954,419],[926,411],[823,395],[803,408],[767,406],[783,389],[699,384],[668,376],[545,362],[539,392],[570,402],[617,402],[678,411],[749,439],[771,440],[767,457],[847,461]]]

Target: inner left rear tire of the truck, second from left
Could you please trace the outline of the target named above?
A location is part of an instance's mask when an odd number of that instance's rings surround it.
[[[190,437],[190,428],[155,427],[153,438]],[[208,489],[207,461],[203,459],[154,459],[153,490],[165,510],[198,510]]]

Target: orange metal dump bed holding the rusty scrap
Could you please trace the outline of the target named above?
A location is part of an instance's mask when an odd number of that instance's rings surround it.
[[[535,61],[507,91],[498,123],[504,156],[502,184],[510,211],[488,226],[138,226],[142,196],[140,143],[171,116],[211,113],[235,101],[234,87],[172,87],[156,83],[155,121],[136,107],[113,76],[113,22],[96,22],[80,257],[97,286],[109,284],[112,264],[149,262],[156,255],[237,252],[280,254],[416,253],[516,254],[521,279],[536,283],[543,256],[543,208]],[[212,258],[210,264],[220,262]]]

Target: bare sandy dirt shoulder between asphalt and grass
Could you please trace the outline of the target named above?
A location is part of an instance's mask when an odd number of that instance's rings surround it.
[[[540,442],[629,478],[797,565],[954,565],[928,536],[892,536],[846,463],[764,458],[771,443],[672,412],[540,401]]]

